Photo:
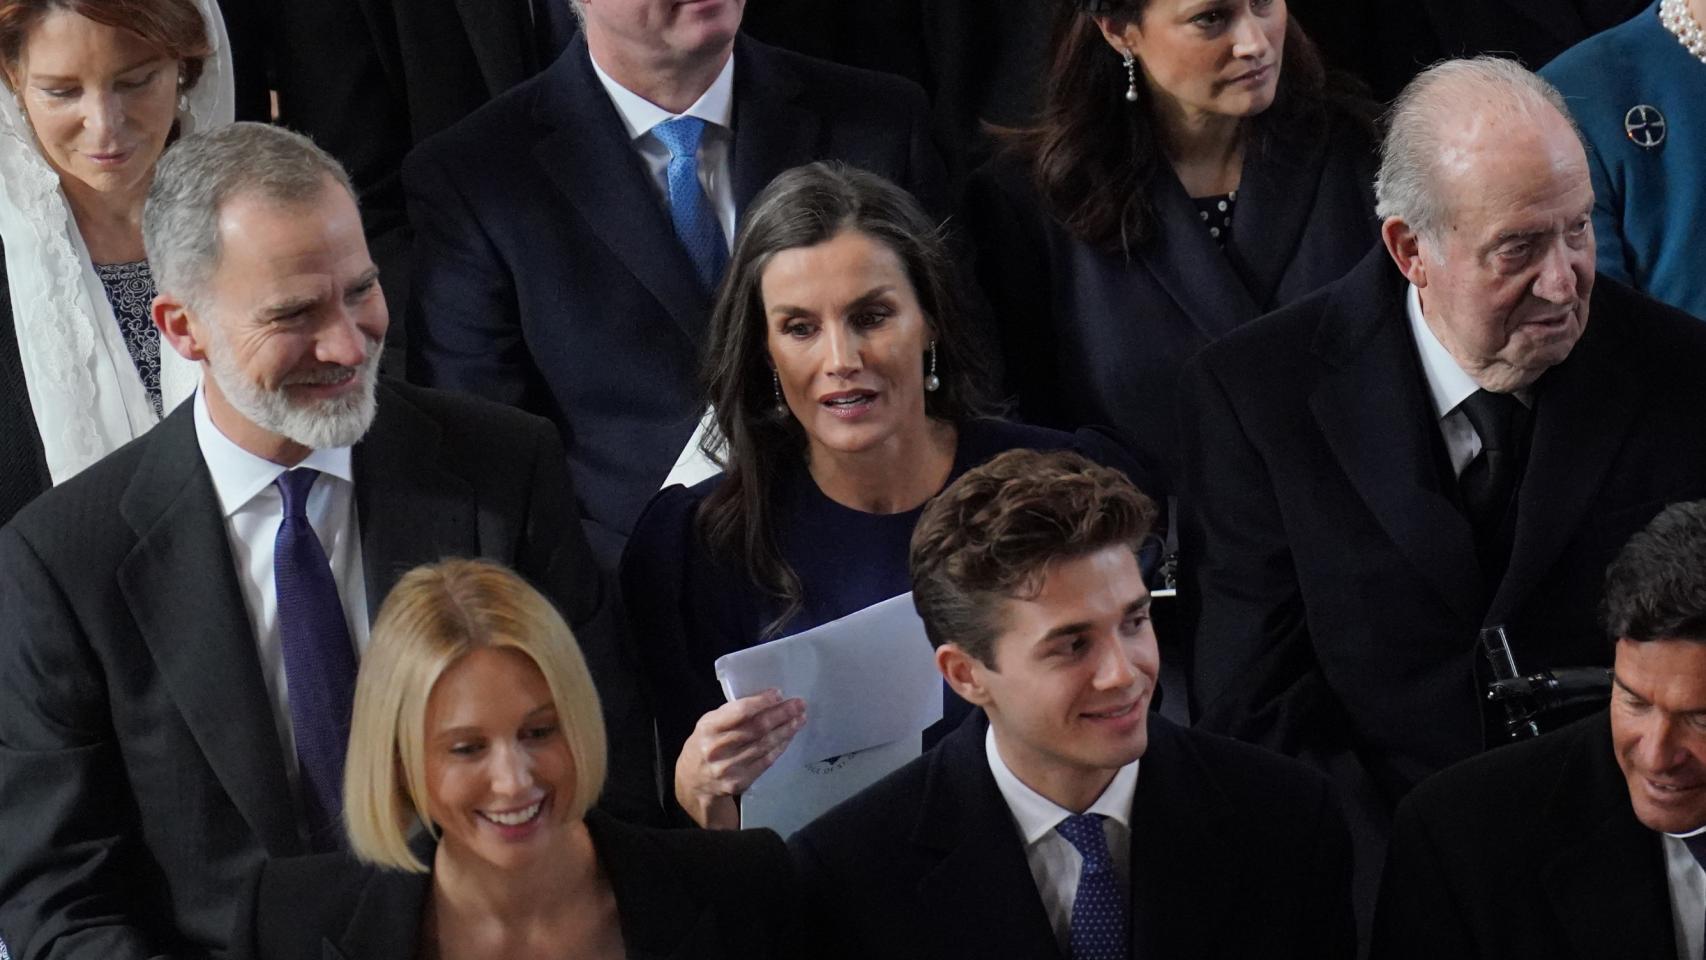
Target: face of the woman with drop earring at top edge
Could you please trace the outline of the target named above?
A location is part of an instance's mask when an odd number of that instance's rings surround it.
[[[1138,58],[1163,116],[1247,118],[1274,102],[1285,26],[1285,0],[1150,0],[1102,32]]]

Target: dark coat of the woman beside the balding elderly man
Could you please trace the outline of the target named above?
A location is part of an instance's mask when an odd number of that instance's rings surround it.
[[[1232,242],[1216,246],[1163,169],[1150,186],[1157,235],[1129,257],[1068,234],[1017,157],[979,171],[964,222],[1024,418],[1114,426],[1157,469],[1145,493],[1174,493],[1181,367],[1356,266],[1377,237],[1373,164],[1368,133],[1346,116],[1264,123],[1244,160]]]

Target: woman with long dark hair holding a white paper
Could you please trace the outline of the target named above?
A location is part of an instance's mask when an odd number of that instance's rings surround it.
[[[623,556],[623,595],[676,803],[701,825],[730,827],[809,704],[781,694],[725,704],[720,655],[911,590],[920,512],[989,457],[1121,452],[1092,433],[988,416],[937,225],[901,188],[848,167],[788,171],[752,201],[705,370],[727,438],[708,454],[723,472],[653,498]],[[947,706],[943,728],[964,716],[957,697]]]

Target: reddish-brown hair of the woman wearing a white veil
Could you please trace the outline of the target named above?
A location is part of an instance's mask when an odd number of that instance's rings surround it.
[[[24,41],[48,14],[67,10],[107,27],[136,34],[181,63],[183,89],[201,80],[213,55],[208,27],[194,0],[0,0],[0,75],[15,85]]]

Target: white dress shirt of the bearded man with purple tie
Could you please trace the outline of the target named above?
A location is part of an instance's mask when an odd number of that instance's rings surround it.
[[[254,627],[261,679],[266,680],[266,694],[273,703],[278,747],[285,752],[285,772],[295,789],[297,743],[290,728],[290,687],[285,679],[285,650],[278,638],[278,593],[273,587],[273,541],[285,517],[285,498],[273,481],[287,467],[256,457],[220,433],[208,416],[206,394],[196,390],[194,402],[196,443],[213,476],[213,493],[218,496],[225,537],[237,566],[237,585]],[[297,466],[321,472],[309,491],[309,523],[331,561],[331,576],[343,600],[343,621],[350,626],[350,639],[360,658],[367,650],[367,581],[362,578],[362,527],[355,517],[350,448],[314,450]]]

